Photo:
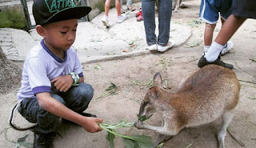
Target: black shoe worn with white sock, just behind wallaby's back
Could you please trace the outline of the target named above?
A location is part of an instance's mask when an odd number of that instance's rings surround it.
[[[233,67],[234,67],[232,64],[222,62],[221,58],[219,58],[219,57],[214,62],[208,62],[206,60],[206,58],[204,56],[202,56],[198,61],[198,67],[200,67],[200,68],[202,68],[203,66],[209,65],[209,64],[215,64],[215,65],[223,66],[223,67],[226,67],[229,69],[233,69]]]

